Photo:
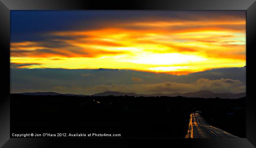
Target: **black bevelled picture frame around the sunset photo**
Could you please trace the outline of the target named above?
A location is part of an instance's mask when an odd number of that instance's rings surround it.
[[[220,139],[10,139],[10,11],[11,10],[246,10],[246,138]],[[256,101],[254,55],[256,44],[255,0],[0,0],[0,49],[2,89],[0,98],[0,146],[3,148],[78,147],[78,144],[111,144],[111,147],[140,147],[168,144],[196,148],[253,148],[256,146]],[[249,69],[248,69],[249,67]],[[86,141],[86,142],[85,142]]]

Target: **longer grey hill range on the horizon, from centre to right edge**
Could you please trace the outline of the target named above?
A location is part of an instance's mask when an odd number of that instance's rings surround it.
[[[98,94],[93,94],[93,96],[184,96],[184,97],[193,97],[193,98],[228,98],[228,99],[236,99],[242,98],[246,96],[246,93],[232,94],[232,93],[214,93],[211,91],[197,91],[197,92],[187,92],[187,93],[172,93],[172,94],[135,94],[133,92],[125,93],[125,92],[116,92],[116,91],[106,91]]]

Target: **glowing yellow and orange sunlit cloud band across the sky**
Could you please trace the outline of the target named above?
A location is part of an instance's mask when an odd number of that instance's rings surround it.
[[[20,65],[16,68],[119,68],[177,75],[245,66],[245,20],[127,21],[44,35],[49,39],[12,42],[11,63]]]

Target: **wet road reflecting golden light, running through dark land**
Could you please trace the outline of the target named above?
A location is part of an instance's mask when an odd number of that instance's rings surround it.
[[[186,138],[238,138],[209,125],[198,113],[191,113]]]

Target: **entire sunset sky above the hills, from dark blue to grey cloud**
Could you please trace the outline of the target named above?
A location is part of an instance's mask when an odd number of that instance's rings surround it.
[[[11,11],[11,92],[245,92],[245,29],[245,11]]]

